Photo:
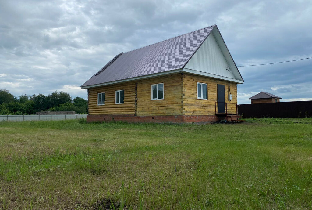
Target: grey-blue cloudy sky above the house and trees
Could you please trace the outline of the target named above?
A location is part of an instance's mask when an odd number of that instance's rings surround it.
[[[312,57],[312,2],[0,0],[0,89],[15,96],[80,88],[112,57],[217,24],[236,65]],[[312,100],[312,59],[241,67],[238,103],[260,92]]]

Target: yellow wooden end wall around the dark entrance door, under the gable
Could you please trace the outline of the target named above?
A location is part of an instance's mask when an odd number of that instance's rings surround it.
[[[197,82],[207,83],[208,100],[197,99]],[[183,75],[183,114],[184,115],[215,115],[217,102],[217,84],[224,85],[225,102],[228,103],[228,113],[236,113],[237,86],[230,82],[232,101],[228,100],[229,82],[201,76]]]

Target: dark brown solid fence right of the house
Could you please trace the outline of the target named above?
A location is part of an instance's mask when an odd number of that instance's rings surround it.
[[[243,118],[308,118],[312,117],[312,101],[241,104],[238,114]]]

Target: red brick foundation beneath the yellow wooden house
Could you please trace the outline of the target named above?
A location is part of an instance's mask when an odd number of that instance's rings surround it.
[[[87,115],[87,122],[111,122],[122,121],[128,123],[211,123],[225,119],[216,115],[169,115],[169,116],[134,116],[123,115]]]

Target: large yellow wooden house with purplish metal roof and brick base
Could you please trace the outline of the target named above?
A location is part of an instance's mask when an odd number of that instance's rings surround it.
[[[206,123],[237,115],[244,83],[217,25],[119,53],[81,88],[87,122]]]

